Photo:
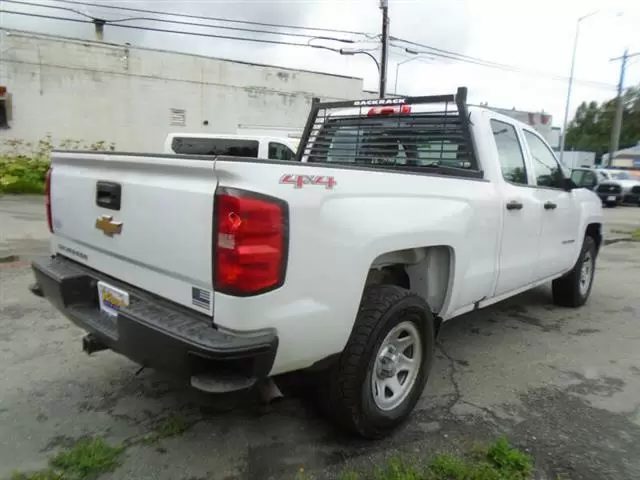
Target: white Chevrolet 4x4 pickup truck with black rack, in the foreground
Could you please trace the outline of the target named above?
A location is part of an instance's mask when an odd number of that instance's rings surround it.
[[[412,411],[443,321],[589,297],[601,202],[527,125],[455,95],[314,102],[297,161],[55,151],[33,291],[207,391],[321,372],[337,423]]]

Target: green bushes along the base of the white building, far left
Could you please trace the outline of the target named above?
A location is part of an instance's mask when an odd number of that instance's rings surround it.
[[[37,142],[4,140],[0,146],[0,194],[44,193],[44,178],[49,169],[49,155],[54,148],[50,136]],[[59,148],[67,150],[113,151],[115,144],[99,141],[85,144],[80,140],[66,139]]]

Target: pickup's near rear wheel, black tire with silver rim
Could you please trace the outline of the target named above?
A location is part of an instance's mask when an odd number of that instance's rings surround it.
[[[326,379],[326,411],[341,428],[380,438],[424,390],[435,350],[433,314],[415,293],[366,287],[351,336]]]

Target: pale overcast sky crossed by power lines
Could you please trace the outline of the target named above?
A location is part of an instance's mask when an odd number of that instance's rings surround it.
[[[19,0],[28,3],[75,8],[91,17],[122,19],[141,14],[96,6],[72,6],[54,0]],[[367,49],[379,58],[381,13],[379,0],[85,0],[87,3],[142,8],[190,15],[203,15],[330,28],[369,34],[318,35],[358,40],[340,43],[316,39],[312,43],[331,48]],[[582,101],[605,101],[616,93],[620,57],[625,48],[640,52],[640,2],[637,0],[388,0],[390,34],[429,47],[456,52],[500,64],[499,68],[442,58],[424,53],[427,49],[394,40],[388,63],[387,92],[406,95],[452,93],[458,86],[469,88],[472,103],[487,102],[499,108],[545,111],[561,126],[566,105],[568,76],[576,26],[579,25],[574,86],[570,118]],[[39,8],[0,0],[0,8],[71,18],[83,18],[61,10]],[[594,13],[596,12],[596,13]],[[593,14],[592,14],[593,13]],[[582,16],[589,15],[578,22]],[[176,17],[164,16],[175,20]],[[182,21],[198,22],[193,19]],[[204,21],[205,23],[213,23]],[[147,20],[123,24],[220,35],[250,36],[307,44],[308,38],[285,35],[217,30],[157,23]],[[218,23],[219,24],[219,23]],[[94,38],[93,26],[0,13],[0,25],[65,36]],[[227,24],[230,25],[230,24]],[[246,28],[247,25],[235,24]],[[252,28],[252,27],[249,27]],[[255,27],[268,29],[267,27]],[[270,29],[273,30],[273,29]],[[637,27],[636,27],[637,30]],[[282,30],[280,30],[282,32]],[[309,30],[288,32],[313,35]],[[176,50],[218,58],[266,63],[290,68],[322,71],[364,79],[364,88],[377,90],[378,73],[365,55],[347,56],[308,47],[268,45],[216,38],[105,27],[105,41]],[[409,53],[404,48],[409,47]],[[400,62],[403,64],[399,65]],[[505,68],[505,66],[507,68]],[[515,71],[514,71],[515,70]],[[397,74],[397,85],[396,85]],[[640,55],[629,60],[625,86],[640,83]]]

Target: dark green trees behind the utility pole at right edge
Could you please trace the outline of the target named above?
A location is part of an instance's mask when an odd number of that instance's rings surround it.
[[[640,86],[629,88],[622,99],[620,148],[627,148],[640,141]],[[583,102],[567,128],[565,148],[596,152],[596,158],[601,158],[609,151],[615,110],[615,98],[601,104]]]

